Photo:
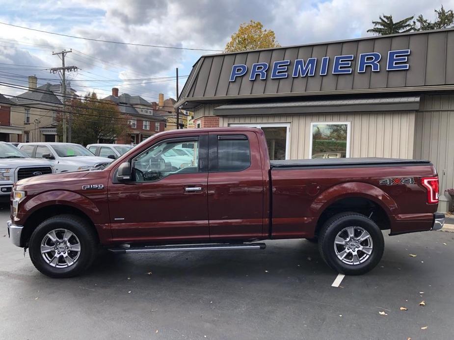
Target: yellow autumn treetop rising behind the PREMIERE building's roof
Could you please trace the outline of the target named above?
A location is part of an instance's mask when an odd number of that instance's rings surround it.
[[[274,31],[263,29],[263,24],[251,20],[240,24],[238,31],[230,37],[225,46],[226,51],[245,51],[249,49],[268,49],[280,47],[276,41]]]

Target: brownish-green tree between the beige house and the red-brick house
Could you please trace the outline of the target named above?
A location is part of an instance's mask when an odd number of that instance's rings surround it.
[[[96,93],[87,93],[82,99],[73,99],[68,105],[72,121],[72,142],[81,145],[114,140],[128,133],[125,117],[116,105],[98,99]],[[62,131],[61,122],[58,126]]]

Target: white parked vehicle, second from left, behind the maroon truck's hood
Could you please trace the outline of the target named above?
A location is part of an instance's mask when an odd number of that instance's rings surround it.
[[[29,157],[49,160],[56,172],[91,170],[112,162],[73,143],[21,143],[18,148]]]

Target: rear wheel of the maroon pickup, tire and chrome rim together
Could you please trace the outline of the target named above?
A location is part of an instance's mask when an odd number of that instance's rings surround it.
[[[380,262],[383,234],[372,219],[358,213],[341,213],[328,219],[321,228],[319,250],[334,270],[360,275]]]

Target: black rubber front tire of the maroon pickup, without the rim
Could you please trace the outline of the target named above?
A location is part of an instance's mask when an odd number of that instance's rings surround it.
[[[55,229],[69,230],[80,242],[79,257],[74,264],[68,267],[52,267],[41,254],[41,242],[43,242],[48,233]],[[44,275],[53,278],[79,275],[90,267],[98,252],[98,237],[96,232],[86,220],[74,215],[58,215],[46,219],[33,231],[28,244],[30,259],[33,265]],[[50,254],[52,256],[53,253]]]

